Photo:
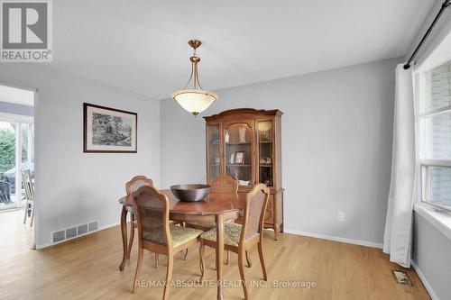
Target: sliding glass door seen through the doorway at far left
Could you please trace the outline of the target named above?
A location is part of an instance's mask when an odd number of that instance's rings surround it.
[[[0,117],[0,210],[25,204],[21,172],[26,168],[30,169],[33,178],[33,123]]]

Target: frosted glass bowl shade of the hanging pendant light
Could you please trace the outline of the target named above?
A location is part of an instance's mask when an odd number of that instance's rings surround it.
[[[182,89],[172,94],[181,107],[189,113],[197,115],[205,111],[217,100],[215,93],[203,89]]]

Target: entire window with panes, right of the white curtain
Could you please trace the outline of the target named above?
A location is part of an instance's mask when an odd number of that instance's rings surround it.
[[[451,60],[419,74],[421,201],[451,210]]]

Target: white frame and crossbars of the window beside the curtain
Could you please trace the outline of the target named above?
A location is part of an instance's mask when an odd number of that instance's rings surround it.
[[[427,135],[427,132],[424,130],[424,126],[421,125],[421,121],[426,120],[429,117],[432,117],[436,114],[446,114],[451,113],[451,105],[440,107],[431,111],[426,112],[423,109],[424,104],[427,101],[428,97],[428,76],[427,72],[431,70],[432,68],[437,68],[441,64],[451,60],[451,57],[449,59],[446,59],[442,63],[438,64],[437,66],[428,66],[427,69],[422,68],[419,69],[415,73],[415,95],[416,95],[416,111],[418,114],[415,116],[415,123],[416,123],[416,132],[417,132],[417,150],[418,150],[418,159],[417,159],[417,167],[419,175],[419,202],[421,204],[431,205],[434,207],[437,207],[440,210],[446,210],[447,212],[451,212],[451,205],[438,205],[435,203],[430,202],[429,195],[428,195],[428,187],[430,186],[428,176],[429,168],[430,167],[444,167],[444,168],[451,168],[451,159],[427,159],[426,153],[428,150],[425,149],[425,147],[428,147],[428,145],[431,144],[432,141],[426,141],[426,137],[430,136]]]

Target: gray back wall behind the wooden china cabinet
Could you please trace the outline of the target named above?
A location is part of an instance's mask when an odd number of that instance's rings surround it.
[[[285,229],[381,243],[399,61],[218,90],[203,115],[281,109]],[[199,182],[205,172],[204,120],[162,101],[161,186]],[[337,211],[345,212],[345,223],[336,221]]]

